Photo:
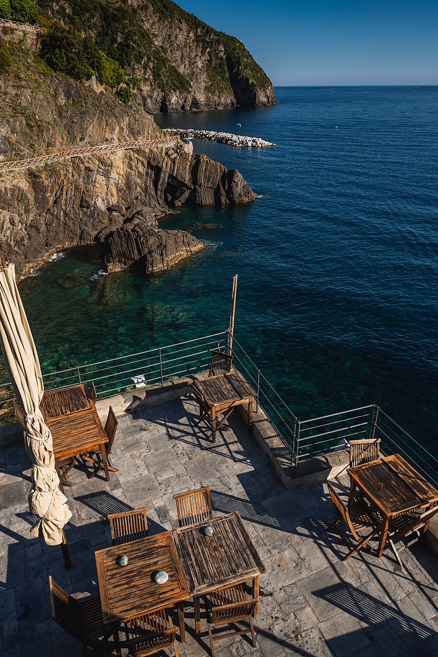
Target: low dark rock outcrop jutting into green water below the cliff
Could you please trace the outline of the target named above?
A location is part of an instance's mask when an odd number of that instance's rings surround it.
[[[200,251],[204,244],[186,231],[162,231],[146,221],[135,226],[126,225],[102,235],[98,242],[104,244],[102,257],[109,272],[132,267],[145,274],[162,271],[183,258]]]

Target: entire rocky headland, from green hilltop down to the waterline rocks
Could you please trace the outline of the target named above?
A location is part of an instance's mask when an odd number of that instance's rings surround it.
[[[204,243],[187,231],[160,229],[160,217],[183,205],[256,198],[238,171],[193,154],[180,139],[123,150],[129,141],[166,137],[152,111],[276,102],[244,45],[172,2],[154,0],[135,11],[125,0],[97,5],[82,12],[67,3],[61,12],[46,3],[39,7],[43,15],[30,15],[27,23],[17,22],[12,9],[0,21],[0,230],[17,276],[59,250],[93,242],[108,272],[161,271]],[[121,36],[112,32],[116,19]],[[237,143],[232,135],[215,139],[228,143],[229,137],[234,145],[269,145],[249,137]],[[112,152],[7,170],[9,162],[105,145]]]

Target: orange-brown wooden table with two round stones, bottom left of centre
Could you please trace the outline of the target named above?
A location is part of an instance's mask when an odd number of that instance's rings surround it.
[[[116,557],[126,555],[127,566],[118,566]],[[95,553],[104,623],[112,623],[117,654],[120,655],[118,624],[157,609],[173,606],[190,597],[171,532],[138,541],[107,547]],[[165,570],[169,579],[157,584],[153,576]],[[180,627],[184,617],[180,612]],[[182,632],[183,630],[181,630]]]

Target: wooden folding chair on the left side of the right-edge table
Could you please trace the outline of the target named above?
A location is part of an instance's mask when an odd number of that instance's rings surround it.
[[[382,528],[382,518],[376,511],[371,509],[370,505],[368,505],[364,499],[359,499],[357,502],[347,507],[347,505],[345,505],[339,497],[338,493],[336,493],[336,490],[332,484],[327,482],[327,486],[338,518],[332,522],[332,524],[326,529],[326,532],[330,532],[332,528],[335,528],[336,532],[338,532],[339,536],[341,537],[341,541],[343,541],[343,543],[345,543],[345,545],[350,548],[349,544],[341,532],[339,532],[339,528],[337,527],[338,523],[341,522],[347,532],[351,533],[357,540],[357,545],[351,548],[349,553],[343,557],[342,560],[345,561],[350,556],[355,555],[357,551],[361,549],[361,547],[370,550],[370,547],[366,544]],[[368,530],[369,528],[373,528],[372,532],[365,537],[362,537],[359,534],[359,532],[362,530]]]

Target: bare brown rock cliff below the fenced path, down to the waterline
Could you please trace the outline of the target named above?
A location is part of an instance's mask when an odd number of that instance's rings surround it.
[[[184,231],[157,233],[158,218],[175,198],[179,204],[229,204],[255,194],[238,171],[183,149],[120,150],[3,175],[0,231],[17,275],[62,248],[93,243],[98,234],[112,271],[140,258],[143,271],[157,271],[196,252],[200,242]]]

